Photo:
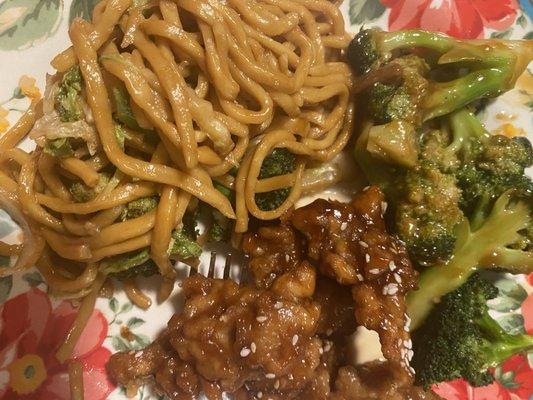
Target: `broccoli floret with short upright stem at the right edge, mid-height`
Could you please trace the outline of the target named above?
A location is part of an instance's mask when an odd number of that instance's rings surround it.
[[[533,164],[527,138],[490,135],[468,109],[450,114],[445,122],[449,144],[446,139],[440,143],[433,139],[425,145],[424,155],[434,157],[441,169],[455,175],[462,191],[461,208],[474,229],[504,192],[513,189],[515,195],[532,196],[533,181],[525,175]]]

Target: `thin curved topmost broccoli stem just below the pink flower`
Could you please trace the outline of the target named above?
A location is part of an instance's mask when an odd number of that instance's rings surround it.
[[[444,53],[453,48],[455,40],[440,33],[409,30],[382,33],[377,43],[378,50],[390,52],[409,47],[425,47]]]

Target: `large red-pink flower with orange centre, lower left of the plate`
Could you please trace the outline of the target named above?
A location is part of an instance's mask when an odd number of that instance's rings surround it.
[[[0,308],[1,399],[70,399],[67,364],[60,364],[55,353],[75,315],[76,309],[67,301],[52,308],[47,294],[37,288]],[[86,399],[103,400],[114,389],[105,372],[111,355],[102,347],[106,335],[107,321],[95,310],[72,355],[83,365]]]

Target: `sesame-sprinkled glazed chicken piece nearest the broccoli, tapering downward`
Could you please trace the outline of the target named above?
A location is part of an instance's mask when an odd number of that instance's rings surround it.
[[[352,286],[357,322],[378,332],[384,356],[408,368],[412,355],[405,294],[417,273],[405,246],[385,229],[384,196],[370,187],[351,203],[316,200],[287,220],[307,239],[320,271]]]

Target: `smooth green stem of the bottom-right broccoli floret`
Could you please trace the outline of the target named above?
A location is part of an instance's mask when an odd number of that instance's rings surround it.
[[[501,364],[513,354],[533,349],[533,335],[510,335],[489,315],[476,323],[490,342],[484,350],[487,368]]]

